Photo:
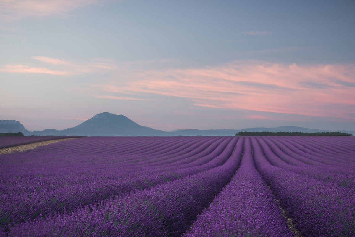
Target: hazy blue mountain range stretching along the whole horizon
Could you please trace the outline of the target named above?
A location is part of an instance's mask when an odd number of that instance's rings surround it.
[[[22,132],[25,136],[30,135],[80,135],[80,136],[234,136],[239,131],[285,131],[285,132],[302,132],[317,133],[331,132],[334,130],[319,130],[301,128],[296,126],[279,126],[277,128],[246,128],[246,129],[178,129],[174,131],[161,131],[147,126],[139,125],[131,119],[120,114],[111,114],[103,112],[96,114],[94,117],[85,122],[64,130],[45,129],[43,131],[28,131],[23,124],[16,120],[0,120],[0,133],[17,133]],[[337,130],[342,133],[350,133],[355,135],[355,131]]]

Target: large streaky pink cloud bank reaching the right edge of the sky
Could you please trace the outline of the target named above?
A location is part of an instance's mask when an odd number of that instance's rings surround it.
[[[114,93],[184,97],[195,106],[353,119],[355,66],[234,61],[216,67],[136,70],[92,85]],[[340,82],[339,82],[340,81]],[[335,109],[335,110],[334,110]]]

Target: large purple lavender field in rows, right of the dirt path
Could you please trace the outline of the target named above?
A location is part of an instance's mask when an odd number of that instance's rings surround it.
[[[355,236],[355,137],[86,137],[3,154],[0,236]]]

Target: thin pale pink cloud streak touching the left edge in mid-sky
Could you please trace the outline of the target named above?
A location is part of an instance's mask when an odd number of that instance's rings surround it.
[[[17,65],[4,65],[0,71],[3,72],[18,72],[18,73],[44,73],[51,75],[72,75],[70,71],[59,71],[59,70],[50,70],[48,68],[34,68],[27,65],[17,64]]]

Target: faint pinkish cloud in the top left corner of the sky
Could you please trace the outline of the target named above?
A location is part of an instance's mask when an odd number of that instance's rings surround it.
[[[0,1],[0,21],[10,22],[24,17],[62,16],[99,0],[5,0]]]

